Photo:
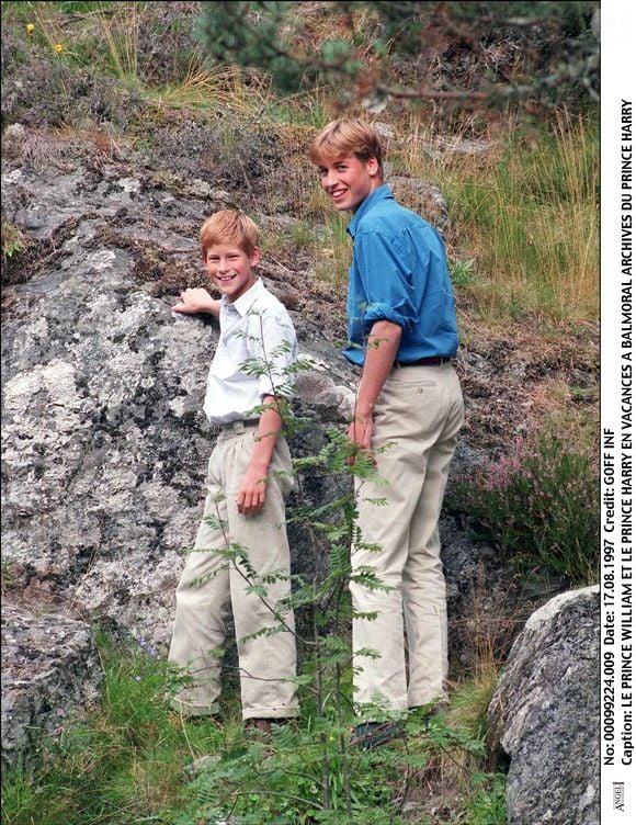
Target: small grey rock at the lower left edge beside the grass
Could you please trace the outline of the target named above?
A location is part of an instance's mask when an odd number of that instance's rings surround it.
[[[2,608],[2,766],[33,754],[68,716],[99,698],[102,669],[91,629],[63,615]]]

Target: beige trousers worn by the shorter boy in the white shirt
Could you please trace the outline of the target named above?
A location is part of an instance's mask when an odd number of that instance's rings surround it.
[[[236,496],[250,461],[257,428],[241,433],[222,432],[212,453],[204,520],[194,550],[188,554],[177,588],[177,614],[169,657],[188,669],[192,686],[182,689],[172,704],[189,715],[218,711],[220,666],[218,656],[226,637],[231,608],[240,673],[243,719],[283,717],[297,714],[296,641],[294,617],[284,615],[288,631],[249,638],[265,628],[280,626],[272,609],[289,592],[289,547],[285,529],[285,499],[292,487],[292,461],[279,438],[270,464],[265,505],[255,516],[241,516]],[[211,525],[206,517],[220,524]],[[258,576],[283,572],[285,580],[268,584],[266,596],[247,592],[243,566],[222,558],[215,550],[235,543],[247,549]],[[253,581],[251,583],[253,584]],[[217,652],[216,655],[214,652]]]

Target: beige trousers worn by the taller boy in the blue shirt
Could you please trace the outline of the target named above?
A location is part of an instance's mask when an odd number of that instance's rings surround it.
[[[401,711],[446,696],[446,587],[438,521],[463,420],[462,389],[450,363],[391,370],[376,405],[373,439],[387,484],[364,482],[356,496],[362,542],[378,549],[354,546],[353,572],[368,565],[391,588],[350,586],[354,611],[377,612],[375,619],[353,620],[354,699],[361,712],[368,703]]]

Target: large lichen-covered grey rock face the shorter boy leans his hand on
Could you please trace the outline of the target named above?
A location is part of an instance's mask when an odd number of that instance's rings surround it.
[[[43,257],[57,237],[55,259],[14,287],[3,323],[5,563],[18,585],[45,579],[77,615],[161,644],[216,434],[201,407],[217,327],[172,315],[170,298],[152,294],[150,260],[194,268],[183,222],[223,204],[183,197],[175,208],[115,168],[87,191],[86,176],[81,166],[4,176],[5,201],[22,195],[21,225]],[[338,420],[348,392],[338,383],[353,375],[342,363],[322,375],[336,350],[295,320],[320,382],[320,392],[308,384],[314,408]]]

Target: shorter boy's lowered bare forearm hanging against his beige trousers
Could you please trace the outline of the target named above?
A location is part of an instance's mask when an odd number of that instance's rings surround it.
[[[263,398],[266,409],[261,414],[252,457],[237,495],[237,508],[242,516],[253,516],[265,504],[268,470],[283,426],[279,409],[282,411],[284,403],[273,395]]]

